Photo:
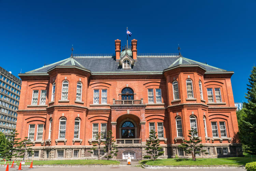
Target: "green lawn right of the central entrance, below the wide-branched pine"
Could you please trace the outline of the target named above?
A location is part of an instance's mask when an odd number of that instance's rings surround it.
[[[246,163],[256,161],[256,156],[251,157],[250,154],[244,153],[244,157],[229,157],[229,158],[207,158],[202,160],[198,158],[196,161],[189,159],[157,159],[153,160],[142,160],[141,164],[152,165],[152,166],[241,166]]]

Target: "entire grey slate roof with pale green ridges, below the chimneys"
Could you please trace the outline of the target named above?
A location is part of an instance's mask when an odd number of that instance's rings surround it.
[[[122,69],[119,63],[115,61],[114,57],[93,57],[93,56],[79,56],[70,57],[62,61],[46,65],[44,67],[26,72],[26,73],[47,73],[48,70],[55,66],[76,66],[94,72],[163,72],[164,69],[172,68],[178,65],[200,65],[206,71],[226,71],[207,64],[193,61],[183,56],[138,56],[137,62],[134,62],[132,69]]]

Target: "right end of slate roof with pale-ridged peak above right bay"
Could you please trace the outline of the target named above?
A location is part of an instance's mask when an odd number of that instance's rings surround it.
[[[205,68],[207,71],[227,71],[224,69],[216,68],[208,64],[204,64],[201,62],[197,62],[188,58],[185,58],[183,56],[180,56],[176,61],[174,61],[168,68],[172,68],[178,65],[200,65],[201,67]]]

